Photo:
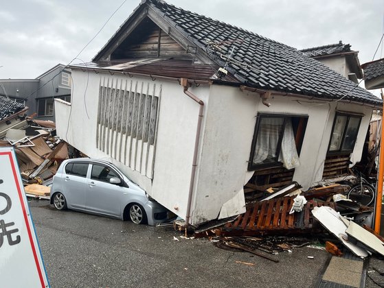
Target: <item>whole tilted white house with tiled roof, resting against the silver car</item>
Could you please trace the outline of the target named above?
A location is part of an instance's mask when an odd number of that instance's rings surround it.
[[[70,68],[58,135],[195,226],[243,213],[245,192],[348,173],[382,105],[297,49],[156,0]]]

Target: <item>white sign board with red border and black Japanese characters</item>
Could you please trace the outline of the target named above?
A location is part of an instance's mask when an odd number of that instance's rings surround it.
[[[0,287],[49,287],[12,147],[0,148]]]

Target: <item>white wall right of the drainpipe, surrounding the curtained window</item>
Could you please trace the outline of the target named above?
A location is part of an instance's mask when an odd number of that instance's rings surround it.
[[[353,163],[359,162],[372,108],[286,96],[272,96],[267,101],[270,107],[262,104],[257,93],[212,86],[194,191],[192,224],[245,211],[242,189],[253,175],[253,171],[247,171],[247,165],[258,113],[308,116],[301,165],[295,169],[293,177],[304,189],[322,178],[336,109],[365,115],[351,156]]]

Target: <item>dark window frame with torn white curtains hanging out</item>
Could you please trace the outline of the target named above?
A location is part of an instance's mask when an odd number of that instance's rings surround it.
[[[261,119],[262,118],[283,118],[283,123],[282,123],[282,130],[280,131],[280,134],[279,134],[279,139],[278,139],[278,144],[277,144],[277,148],[276,148],[276,159],[273,163],[264,163],[264,164],[253,164],[253,156],[254,156],[254,153],[255,153],[255,150],[256,150],[256,141],[257,141],[257,138],[258,138],[258,132],[259,132],[259,128],[260,128],[260,123],[261,123]],[[308,115],[291,115],[291,114],[273,114],[273,113],[258,113],[258,115],[256,116],[256,123],[255,123],[255,128],[253,130],[253,138],[252,138],[252,144],[251,144],[251,153],[249,155],[249,161],[248,161],[248,171],[255,171],[257,169],[263,169],[263,168],[273,168],[273,167],[282,167],[283,163],[280,163],[278,161],[278,158],[280,156],[280,152],[281,152],[281,149],[282,149],[282,139],[283,139],[283,136],[284,136],[284,130],[285,130],[285,125],[286,125],[286,121],[288,118],[302,118],[305,120],[305,128],[304,128],[304,131],[302,132],[302,139],[300,141],[300,145],[298,145],[296,147],[297,149],[297,154],[300,156],[300,152],[301,152],[301,149],[302,149],[302,144],[303,144],[303,141],[304,141],[304,135],[305,135],[305,131],[306,131],[306,126],[308,124]],[[297,133],[297,131],[296,131]],[[295,134],[295,137],[296,137],[296,134]]]

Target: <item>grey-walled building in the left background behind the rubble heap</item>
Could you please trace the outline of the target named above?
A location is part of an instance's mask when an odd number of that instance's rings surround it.
[[[54,121],[54,99],[71,101],[71,71],[58,64],[36,79],[0,80],[0,96],[24,104],[35,119]]]

